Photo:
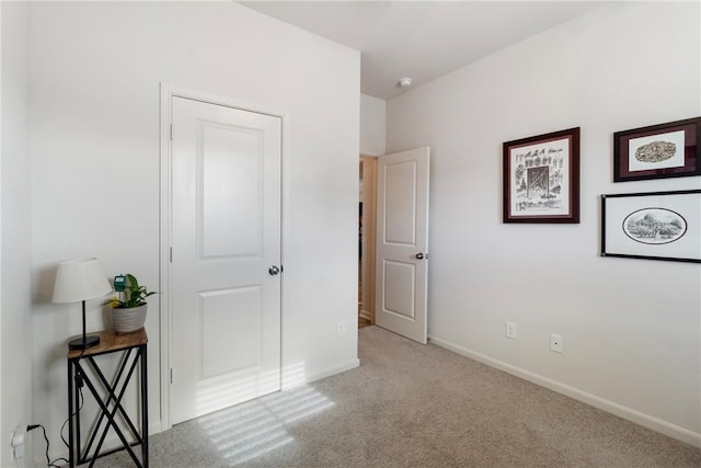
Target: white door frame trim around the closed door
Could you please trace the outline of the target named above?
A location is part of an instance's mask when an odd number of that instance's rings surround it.
[[[160,294],[160,322],[159,322],[159,338],[160,338],[160,395],[161,395],[161,421],[160,427],[153,427],[153,432],[165,431],[172,426],[171,423],[171,398],[170,398],[170,369],[171,369],[171,342],[172,342],[172,322],[171,322],[171,262],[170,262],[170,248],[172,239],[172,216],[171,216],[171,102],[172,98],[185,98],[195,101],[202,101],[210,104],[226,105],[228,107],[235,107],[243,111],[256,112],[260,114],[267,114],[275,117],[279,117],[283,123],[283,167],[281,167],[281,249],[280,260],[281,264],[285,264],[285,244],[287,236],[287,215],[285,207],[289,202],[288,187],[288,174],[290,158],[289,158],[289,121],[290,113],[280,111],[279,109],[269,107],[267,105],[252,104],[249,102],[235,100],[229,96],[222,96],[211,94],[203,91],[192,90],[187,88],[176,87],[170,83],[160,83],[160,98],[161,98],[161,112],[160,112],[160,159],[161,159],[161,214],[160,214],[160,241],[159,241],[159,254],[160,254],[160,277],[159,277],[159,292]],[[285,331],[285,278],[281,277],[281,304],[280,304],[280,340],[284,342]],[[280,354],[284,354],[283,346],[280,345]],[[280,366],[284,365],[283,355],[280,355]]]

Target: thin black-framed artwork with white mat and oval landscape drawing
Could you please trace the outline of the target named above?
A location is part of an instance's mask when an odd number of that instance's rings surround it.
[[[601,195],[601,256],[701,263],[701,190]]]

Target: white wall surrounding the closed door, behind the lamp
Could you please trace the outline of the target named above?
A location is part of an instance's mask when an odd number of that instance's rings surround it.
[[[47,2],[31,12],[33,397],[49,433],[66,418],[65,340],[80,331],[78,306],[50,304],[57,262],[95,255],[108,275],[129,271],[164,288],[161,81],[289,113],[283,365],[307,380],[356,366],[359,53],[232,2]],[[150,300],[152,427],[158,310]],[[107,324],[100,301],[88,316],[89,330]]]

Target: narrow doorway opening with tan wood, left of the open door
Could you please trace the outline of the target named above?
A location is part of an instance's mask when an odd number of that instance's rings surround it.
[[[358,328],[375,324],[377,159],[360,157],[358,207]]]

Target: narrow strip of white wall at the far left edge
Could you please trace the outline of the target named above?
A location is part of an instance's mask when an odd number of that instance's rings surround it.
[[[2,225],[0,239],[0,466],[13,466],[12,431],[32,423],[32,316],[30,313],[28,9],[1,2]],[[38,437],[38,438],[37,438]],[[43,443],[41,433],[31,440]]]

